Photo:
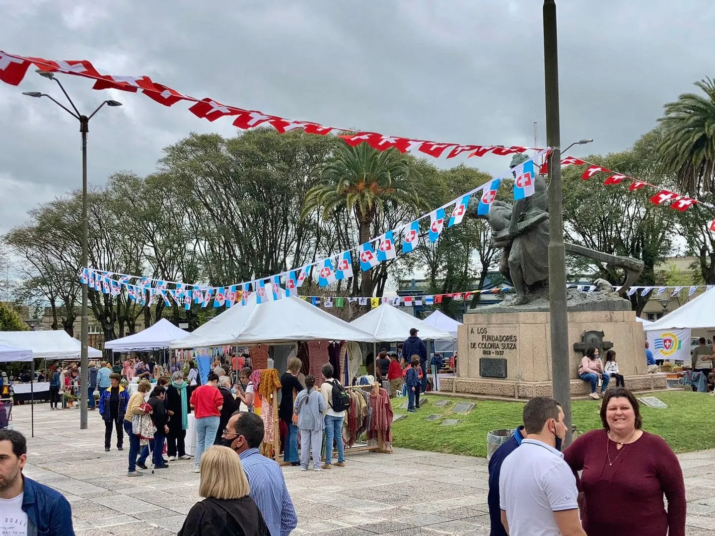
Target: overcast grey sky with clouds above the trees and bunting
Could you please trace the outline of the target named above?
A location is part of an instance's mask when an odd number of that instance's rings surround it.
[[[537,0],[4,0],[0,49],[88,59],[106,74],[148,75],[199,99],[384,134],[463,144],[545,144],[541,2]],[[712,76],[712,0],[558,2],[563,145],[626,149],[666,101]],[[61,76],[61,75],[60,75]],[[89,181],[152,172],[190,131],[231,135],[185,104],[62,81],[81,110],[122,101],[90,124]],[[0,83],[0,233],[40,202],[81,186],[77,123],[30,71]],[[577,147],[578,149],[578,147]],[[440,162],[453,165],[458,162]],[[470,159],[499,173],[508,157]]]

